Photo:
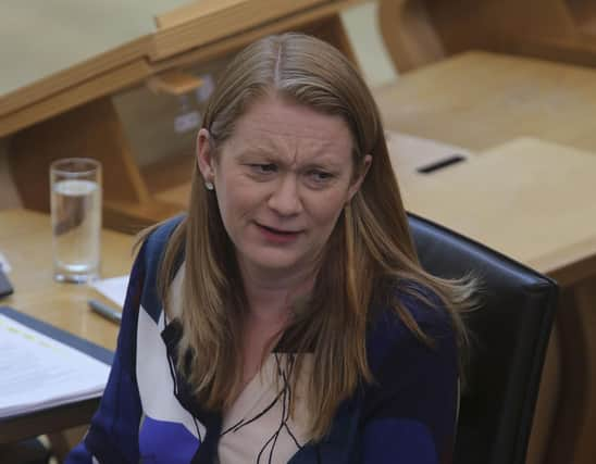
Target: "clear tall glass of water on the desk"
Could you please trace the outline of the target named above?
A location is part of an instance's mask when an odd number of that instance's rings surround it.
[[[54,279],[86,283],[99,277],[101,164],[66,158],[50,166]]]

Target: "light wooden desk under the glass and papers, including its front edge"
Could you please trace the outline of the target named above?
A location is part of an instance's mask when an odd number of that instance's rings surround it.
[[[134,238],[102,233],[102,277],[127,274]],[[114,350],[119,327],[89,311],[89,298],[102,297],[86,285],[52,279],[50,218],[26,210],[0,211],[0,250],[11,263],[14,293],[0,301],[23,313]],[[108,302],[107,300],[103,300]],[[0,419],[0,443],[88,423],[97,400],[61,406],[13,421]]]

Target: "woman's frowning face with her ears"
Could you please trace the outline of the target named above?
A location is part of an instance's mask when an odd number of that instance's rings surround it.
[[[198,137],[199,167],[215,186],[223,224],[245,271],[303,272],[318,258],[371,162],[353,176],[339,117],[266,97],[236,122],[215,156]]]

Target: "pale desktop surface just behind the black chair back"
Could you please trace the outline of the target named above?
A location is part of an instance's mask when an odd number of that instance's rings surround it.
[[[395,138],[389,138],[389,150],[409,211],[561,284],[594,274],[596,156],[592,153],[522,138],[420,174],[411,156],[396,149]],[[444,153],[448,155],[450,149]]]

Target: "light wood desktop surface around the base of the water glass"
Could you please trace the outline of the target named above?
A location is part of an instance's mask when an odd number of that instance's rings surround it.
[[[102,297],[86,285],[53,280],[51,239],[48,214],[27,210],[0,211],[0,243],[13,268],[10,279],[14,286],[14,293],[3,299],[2,304],[110,350],[115,349],[117,326],[87,308],[89,298]],[[102,230],[101,277],[129,272],[133,242],[133,236]]]

